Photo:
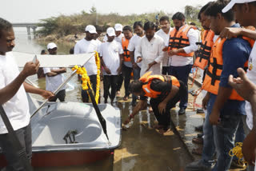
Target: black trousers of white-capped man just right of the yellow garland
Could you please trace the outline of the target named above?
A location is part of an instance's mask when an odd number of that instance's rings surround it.
[[[104,87],[104,98],[105,101],[110,96],[111,100],[114,100],[115,93],[117,92],[117,82],[118,82],[118,75],[104,75],[103,78],[103,87]],[[111,93],[110,93],[111,87]]]

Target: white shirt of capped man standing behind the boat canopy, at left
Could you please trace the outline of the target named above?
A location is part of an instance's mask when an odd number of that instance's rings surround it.
[[[60,68],[43,68],[44,74],[50,73],[50,70],[59,70]],[[58,74],[54,77],[48,77],[46,75],[46,90],[54,92],[58,89],[58,86],[64,82],[64,75]],[[62,89],[66,89],[66,86],[63,86]],[[60,89],[60,90],[62,90]]]

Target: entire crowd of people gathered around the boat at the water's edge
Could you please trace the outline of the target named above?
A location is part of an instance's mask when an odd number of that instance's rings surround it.
[[[202,155],[202,159],[186,165],[186,170],[226,171],[231,163],[243,166],[238,158],[230,157],[234,142],[243,142],[242,153],[249,164],[247,170],[254,170],[256,1],[208,2],[198,14],[202,33],[192,23],[187,24],[180,12],[171,19],[174,28],[170,26],[170,18],[162,16],[159,30],[154,22],[144,25],[134,22],[132,27],[116,24],[106,30],[102,41],[101,26],[86,26],[86,37],[75,44],[70,54],[98,51],[104,103],[108,103],[110,97],[113,105],[124,82],[123,100],[127,101],[132,93],[134,106],[124,124],[145,109],[150,100],[150,111],[158,121],[155,128],[159,133],[170,129],[170,109],[178,101],[178,114],[186,113],[189,74],[193,66],[198,67],[202,71],[202,109],[206,117],[202,136],[194,138],[203,144],[202,149],[194,152]],[[62,74],[66,68],[43,68],[38,75],[46,76],[46,90],[34,88],[24,81],[38,72],[39,62],[27,62],[19,73],[12,54],[8,53],[14,46],[14,30],[10,22],[0,18],[0,101],[30,159],[30,113],[25,91],[38,93],[50,101],[65,101],[65,87],[57,94],[52,92],[64,81]],[[55,55],[58,47],[51,42],[47,50],[48,54]],[[84,67],[95,92],[98,70],[95,57]],[[81,96],[83,102],[89,102],[86,90],[82,90]],[[0,147],[9,163],[7,170],[22,170],[9,143],[10,137],[0,119]]]

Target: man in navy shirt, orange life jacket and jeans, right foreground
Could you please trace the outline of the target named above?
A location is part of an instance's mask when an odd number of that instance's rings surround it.
[[[219,35],[225,27],[240,27],[234,22],[232,10],[222,13],[229,1],[214,2],[207,10],[210,28]],[[234,147],[234,135],[245,115],[245,101],[228,85],[230,74],[238,76],[237,69],[245,67],[251,51],[250,43],[242,38],[218,38],[212,47],[209,67],[202,89],[207,91],[202,106],[210,113],[210,123],[214,125],[214,144],[218,161],[213,170],[226,171],[230,168]],[[208,119],[208,118],[206,118]]]

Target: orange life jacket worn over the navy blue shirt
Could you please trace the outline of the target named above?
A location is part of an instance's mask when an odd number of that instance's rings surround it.
[[[226,38],[218,38],[212,47],[212,52],[210,54],[210,61],[208,65],[208,69],[206,71],[206,78],[202,84],[202,89],[210,93],[218,94],[218,87],[220,83],[220,78],[222,75],[222,49],[224,42],[226,42]],[[248,65],[248,62],[244,64],[244,67]],[[244,101],[244,99],[238,95],[238,93],[233,89],[232,93],[229,97],[230,100]]]

